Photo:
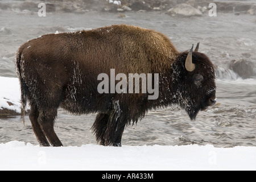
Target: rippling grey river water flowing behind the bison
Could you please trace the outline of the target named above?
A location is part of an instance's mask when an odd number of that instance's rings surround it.
[[[56,31],[77,31],[111,24],[133,24],[166,34],[179,51],[200,41],[217,72],[217,104],[191,121],[176,106],[150,111],[123,134],[125,145],[213,144],[216,147],[256,146],[256,78],[243,80],[228,69],[233,59],[256,61],[256,16],[217,13],[172,18],[160,13],[68,14],[0,10],[0,76],[16,77],[14,55],[27,40]],[[4,86],[4,85],[0,85]],[[55,130],[65,146],[96,143],[90,131],[96,115],[70,115],[59,110]],[[0,143],[20,140],[37,144],[28,116],[0,119]]]

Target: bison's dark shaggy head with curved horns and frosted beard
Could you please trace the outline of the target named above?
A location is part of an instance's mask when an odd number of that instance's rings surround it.
[[[187,111],[191,119],[195,119],[200,110],[216,103],[213,64],[198,49],[199,43],[195,51],[192,46],[188,52],[181,52],[172,64],[175,101]]]

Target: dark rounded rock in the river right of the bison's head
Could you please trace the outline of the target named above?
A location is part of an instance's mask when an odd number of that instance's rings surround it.
[[[254,72],[254,63],[245,59],[232,60],[229,64],[229,68],[237,73],[241,78],[256,76],[256,73]]]

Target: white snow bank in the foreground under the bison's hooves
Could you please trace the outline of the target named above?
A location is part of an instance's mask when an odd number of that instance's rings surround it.
[[[256,147],[0,144],[0,170],[255,170]]]

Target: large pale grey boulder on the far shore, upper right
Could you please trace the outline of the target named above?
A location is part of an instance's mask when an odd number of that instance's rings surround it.
[[[167,11],[168,15],[180,15],[180,16],[201,16],[202,13],[199,9],[185,3],[181,3]]]

